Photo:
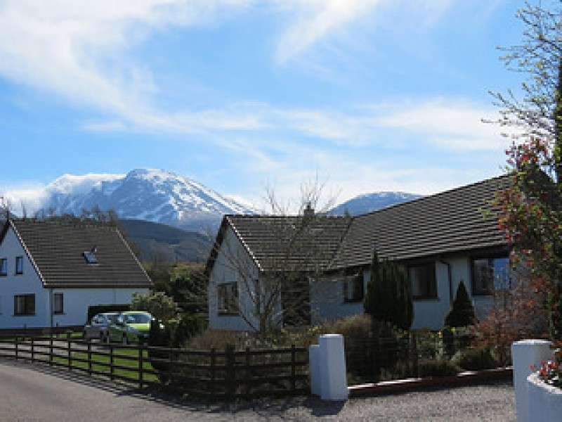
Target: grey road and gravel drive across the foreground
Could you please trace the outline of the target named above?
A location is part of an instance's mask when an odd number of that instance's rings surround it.
[[[0,421],[515,421],[510,383],[322,402],[311,397],[195,404],[0,360]]]

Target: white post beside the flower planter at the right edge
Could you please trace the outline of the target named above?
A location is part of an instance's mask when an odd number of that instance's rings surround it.
[[[532,372],[531,366],[552,359],[550,346],[548,340],[521,340],[511,345],[518,422],[528,422],[527,377]]]

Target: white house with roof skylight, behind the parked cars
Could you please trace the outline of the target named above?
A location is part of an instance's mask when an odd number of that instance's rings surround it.
[[[90,305],[151,286],[115,227],[8,219],[0,233],[0,330],[82,326]]]

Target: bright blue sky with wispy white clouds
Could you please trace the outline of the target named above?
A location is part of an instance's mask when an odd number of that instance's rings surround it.
[[[0,195],[155,168],[252,203],[503,172],[519,0],[0,0]]]

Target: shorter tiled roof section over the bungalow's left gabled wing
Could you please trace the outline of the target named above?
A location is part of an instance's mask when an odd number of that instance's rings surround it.
[[[263,271],[288,268],[315,271],[327,268],[349,223],[347,217],[320,215],[227,215],[221,231],[229,224]],[[220,238],[221,234],[219,242]],[[212,261],[213,255],[209,264]]]

